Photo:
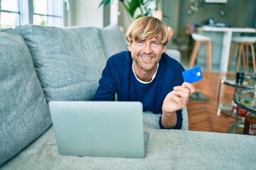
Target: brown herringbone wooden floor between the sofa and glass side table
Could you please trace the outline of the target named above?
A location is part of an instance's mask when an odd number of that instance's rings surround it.
[[[230,75],[205,71],[203,72],[203,80],[193,84],[196,87],[196,91],[202,91],[203,95],[209,97],[210,100],[207,102],[188,102],[189,130],[223,133],[228,132],[228,128],[234,123],[234,118],[224,113],[218,113],[217,109],[220,78],[225,76]],[[233,87],[222,86],[220,102],[231,102],[233,93]]]

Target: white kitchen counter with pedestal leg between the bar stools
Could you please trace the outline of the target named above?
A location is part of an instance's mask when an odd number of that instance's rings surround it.
[[[256,32],[255,28],[219,28],[209,26],[197,28],[197,31],[212,38],[212,60],[213,62],[220,62],[218,64],[220,64],[221,72],[228,72],[228,58],[232,37],[239,35],[238,33]]]

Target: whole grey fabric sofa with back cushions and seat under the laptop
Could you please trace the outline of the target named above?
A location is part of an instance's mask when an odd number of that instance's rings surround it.
[[[144,159],[60,156],[48,101],[90,100],[107,57],[126,49],[116,26],[1,29],[0,169],[255,169],[255,136],[159,130],[151,113]]]

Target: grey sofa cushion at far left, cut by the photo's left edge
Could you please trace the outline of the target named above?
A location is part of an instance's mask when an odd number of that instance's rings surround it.
[[[14,29],[0,29],[0,166],[50,127],[31,54]]]

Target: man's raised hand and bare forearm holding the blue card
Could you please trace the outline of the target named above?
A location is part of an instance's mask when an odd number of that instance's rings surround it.
[[[164,128],[172,128],[176,125],[176,111],[186,106],[189,96],[195,91],[192,84],[183,82],[181,86],[175,86],[174,91],[166,95],[162,106],[162,125]]]

